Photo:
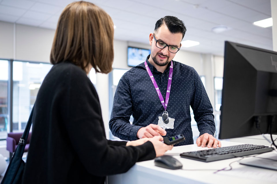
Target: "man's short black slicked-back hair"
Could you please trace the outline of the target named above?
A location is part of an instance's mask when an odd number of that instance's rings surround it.
[[[181,21],[180,19],[178,19],[177,17],[174,16],[165,16],[163,18],[160,18],[155,25],[155,31],[158,31],[158,29],[160,28],[160,26],[162,26],[163,24],[166,25],[166,27],[169,29],[169,31],[171,33],[182,33],[184,38],[185,33],[186,33],[186,26],[184,24],[183,21]]]

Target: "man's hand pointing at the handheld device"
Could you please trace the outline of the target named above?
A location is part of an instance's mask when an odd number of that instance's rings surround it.
[[[139,129],[136,137],[141,138],[152,138],[154,136],[166,135],[166,131],[156,124],[149,124],[147,127]]]

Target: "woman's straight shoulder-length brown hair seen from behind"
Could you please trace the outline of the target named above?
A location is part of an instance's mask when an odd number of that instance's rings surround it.
[[[50,54],[52,64],[64,61],[80,66],[89,63],[96,72],[108,73],[113,63],[113,21],[93,3],[78,1],[63,9]]]

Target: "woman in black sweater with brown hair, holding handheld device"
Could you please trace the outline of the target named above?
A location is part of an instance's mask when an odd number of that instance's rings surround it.
[[[87,74],[108,73],[113,61],[113,22],[84,1],[63,10],[50,61],[33,112],[33,131],[23,183],[104,183],[135,162],[161,156],[171,145],[162,137],[110,141]]]

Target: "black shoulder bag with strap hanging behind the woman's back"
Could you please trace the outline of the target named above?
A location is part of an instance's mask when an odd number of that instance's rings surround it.
[[[22,160],[22,156],[32,124],[33,110],[34,108],[31,111],[24,133],[20,137],[18,146],[16,147],[14,155],[10,160],[10,164],[1,184],[18,184],[22,182],[23,171],[25,168],[25,162]]]

